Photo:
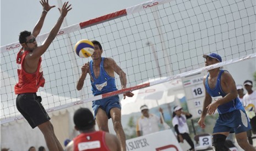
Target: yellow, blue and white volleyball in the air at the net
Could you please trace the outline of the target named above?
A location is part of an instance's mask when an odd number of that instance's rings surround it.
[[[94,44],[88,39],[79,40],[75,44],[75,53],[79,57],[90,57],[94,53]]]

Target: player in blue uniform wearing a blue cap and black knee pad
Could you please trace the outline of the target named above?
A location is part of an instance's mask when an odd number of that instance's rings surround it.
[[[210,66],[222,61],[221,56],[215,53],[203,55],[205,66]],[[247,133],[250,124],[242,103],[237,97],[235,80],[227,71],[220,68],[209,70],[204,77],[205,99],[203,112],[198,121],[199,126],[205,127],[206,114],[212,115],[219,112],[213,130],[213,147],[215,150],[229,150],[225,146],[225,140],[230,132],[235,132],[237,143],[244,150],[255,150],[247,141]]]

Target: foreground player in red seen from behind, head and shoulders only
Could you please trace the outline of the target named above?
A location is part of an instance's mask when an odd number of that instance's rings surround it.
[[[95,130],[94,115],[88,108],[80,108],[74,114],[75,130],[80,135],[67,145],[67,151],[101,151],[101,150],[121,150],[120,142],[115,135],[105,131]]]

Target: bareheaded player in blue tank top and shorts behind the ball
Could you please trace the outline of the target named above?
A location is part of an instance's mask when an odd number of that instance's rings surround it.
[[[126,73],[117,65],[115,60],[109,57],[101,57],[103,52],[101,44],[93,40],[94,53],[91,55],[92,60],[81,68],[82,74],[78,80],[77,89],[81,90],[87,73],[90,75],[91,90],[94,96],[105,94],[107,92],[116,91],[115,72],[119,75],[122,89],[126,88]],[[132,92],[126,92],[126,96],[132,97]],[[121,124],[121,105],[119,96],[111,96],[101,100],[92,101],[92,109],[97,125],[102,131],[109,132],[108,119],[112,118],[113,127],[117,133],[118,140],[121,143],[122,150],[126,150],[126,136]]]

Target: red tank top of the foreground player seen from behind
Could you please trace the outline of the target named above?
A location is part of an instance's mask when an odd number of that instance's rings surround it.
[[[80,133],[73,139],[74,151],[90,150],[90,151],[102,151],[110,150],[105,142],[106,132],[94,131],[90,133]]]

